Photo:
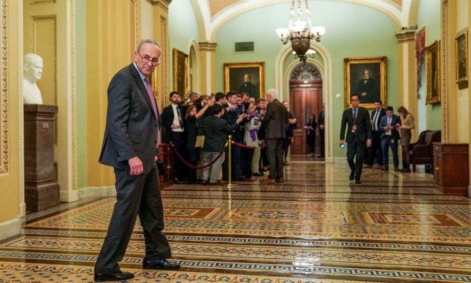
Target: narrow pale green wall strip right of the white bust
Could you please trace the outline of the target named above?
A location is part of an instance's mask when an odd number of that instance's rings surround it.
[[[76,1],[76,146],[77,146],[77,188],[87,187],[87,97],[85,69],[85,1]]]

